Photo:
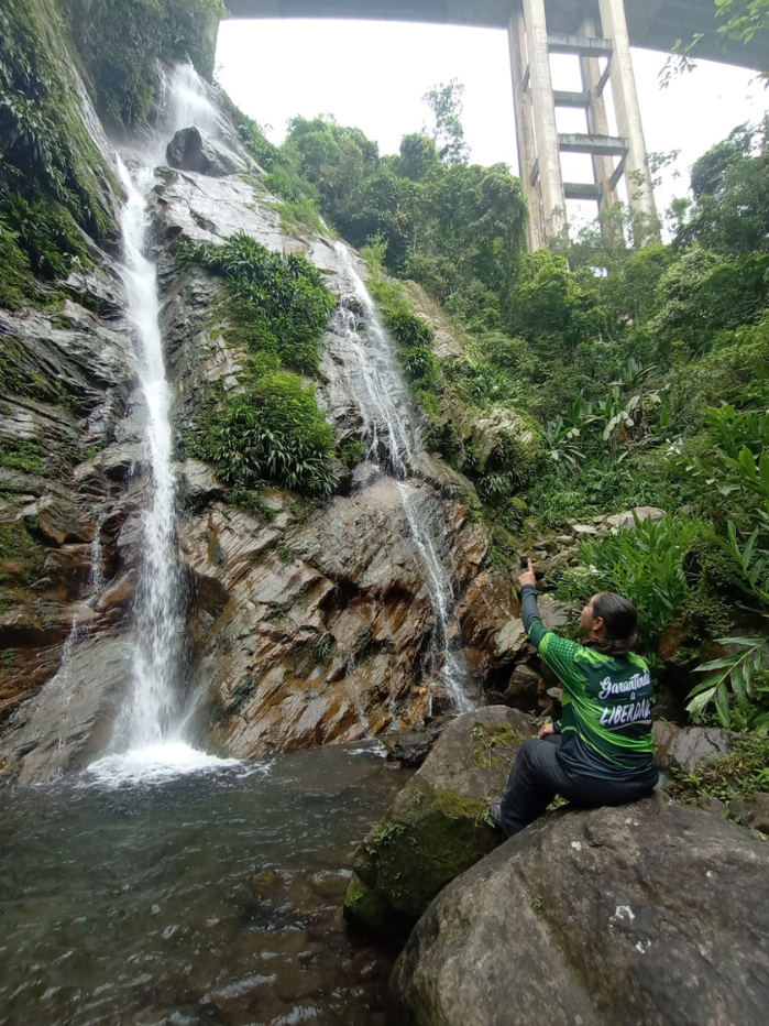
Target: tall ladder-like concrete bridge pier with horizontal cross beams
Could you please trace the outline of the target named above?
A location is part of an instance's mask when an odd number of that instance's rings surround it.
[[[595,2],[582,2],[585,14],[576,36],[548,33],[546,0],[514,0],[508,23],[518,159],[529,206],[529,250],[547,245],[563,232],[567,198],[595,198],[601,209],[613,206],[623,173],[630,209],[650,219],[656,217],[624,0],[597,0],[597,8]],[[598,11],[600,31],[595,17]],[[553,92],[551,53],[579,56],[582,92]],[[603,72],[601,58],[607,62]],[[608,134],[603,96],[607,80],[618,138]],[[559,135],[556,108],[560,106],[585,110],[584,135]],[[563,151],[592,155],[592,184],[564,186],[560,159]]]

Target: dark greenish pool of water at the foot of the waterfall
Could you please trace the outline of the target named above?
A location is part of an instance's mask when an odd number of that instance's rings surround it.
[[[154,785],[0,788],[0,1024],[384,1023],[341,917],[407,773],[327,747]]]

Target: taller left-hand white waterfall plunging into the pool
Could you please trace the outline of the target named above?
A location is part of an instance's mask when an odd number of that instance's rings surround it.
[[[179,622],[183,580],[176,544],[176,480],[173,463],[172,394],[165,373],[157,273],[145,254],[150,227],[147,196],[154,167],[176,131],[216,128],[218,114],[190,66],[176,66],[162,76],[157,128],[140,150],[120,157],[127,193],[121,218],[122,276],[132,324],[136,369],[146,405],[145,448],[152,472],[151,504],[143,517],[140,583],[134,603],[131,694],[118,718],[113,750],[92,766],[101,776],[141,775],[142,765],[155,775],[164,767],[198,768],[209,757],[180,740],[183,716],[179,676]],[[220,760],[212,760],[220,763]]]

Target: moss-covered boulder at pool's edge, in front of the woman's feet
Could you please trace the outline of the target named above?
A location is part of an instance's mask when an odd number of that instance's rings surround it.
[[[355,852],[349,921],[404,937],[446,884],[502,841],[488,798],[502,795],[532,732],[530,717],[504,706],[465,713],[443,731]]]

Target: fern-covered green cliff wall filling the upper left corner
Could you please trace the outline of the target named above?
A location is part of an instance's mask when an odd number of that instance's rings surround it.
[[[85,255],[77,226],[114,236],[114,182],[80,114],[56,0],[0,10],[0,303],[39,298]]]

